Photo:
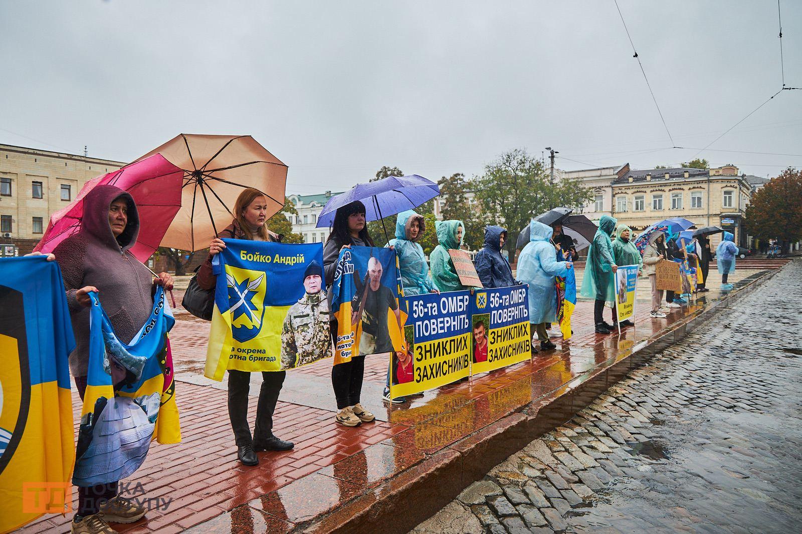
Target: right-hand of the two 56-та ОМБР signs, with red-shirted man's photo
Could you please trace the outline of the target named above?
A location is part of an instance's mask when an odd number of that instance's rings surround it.
[[[529,286],[477,290],[472,299],[471,374],[532,358]]]

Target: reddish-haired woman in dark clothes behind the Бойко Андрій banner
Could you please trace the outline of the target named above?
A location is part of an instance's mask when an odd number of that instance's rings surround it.
[[[203,289],[212,289],[217,276],[212,273],[212,258],[225,249],[223,238],[253,241],[281,241],[282,236],[267,228],[268,199],[254,188],[245,188],[234,202],[234,220],[217,233],[209,245],[209,257],[198,269],[197,282]],[[261,390],[256,411],[256,426],[251,436],[248,425],[248,393],[250,373],[229,369],[229,419],[237,443],[237,458],[247,466],[259,463],[256,451],[289,451],[294,443],[278,439],[273,435],[273,412],[276,410],[278,394],[286,377],[286,371],[264,371],[261,374]]]

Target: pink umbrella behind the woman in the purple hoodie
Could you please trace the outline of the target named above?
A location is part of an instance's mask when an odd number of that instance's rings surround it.
[[[51,215],[42,241],[35,250],[53,252],[56,245],[79,232],[83,218],[83,197],[98,185],[115,185],[131,193],[140,214],[140,233],[131,253],[141,262],[148,261],[161,243],[173,217],[181,208],[181,183],[184,171],[160,154],[126,165],[107,175],[92,178],[66,208]]]

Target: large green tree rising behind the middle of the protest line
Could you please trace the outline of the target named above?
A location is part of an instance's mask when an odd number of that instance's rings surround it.
[[[515,257],[518,233],[533,216],[558,206],[576,207],[593,196],[578,181],[563,179],[551,184],[543,162],[520,148],[485,165],[476,185],[476,199],[485,216],[507,229],[511,258]]]

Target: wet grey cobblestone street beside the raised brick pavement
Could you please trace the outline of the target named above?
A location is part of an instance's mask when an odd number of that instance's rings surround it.
[[[795,261],[413,532],[798,532]]]

